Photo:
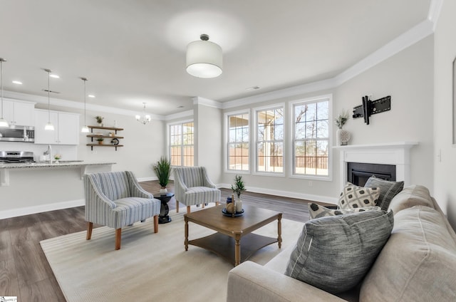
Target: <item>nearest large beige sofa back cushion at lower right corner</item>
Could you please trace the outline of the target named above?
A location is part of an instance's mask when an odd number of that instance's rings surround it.
[[[445,217],[415,206],[395,214],[394,224],[360,301],[456,301],[456,242]]]

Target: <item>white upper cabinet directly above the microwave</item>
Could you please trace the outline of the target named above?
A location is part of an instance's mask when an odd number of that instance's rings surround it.
[[[3,117],[9,125],[34,126],[35,103],[4,100]]]

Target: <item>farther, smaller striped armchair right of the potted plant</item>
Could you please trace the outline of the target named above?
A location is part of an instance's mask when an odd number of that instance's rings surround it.
[[[176,212],[179,212],[179,202],[187,206],[207,204],[220,201],[220,190],[207,177],[205,167],[174,167],[174,190],[176,198]]]

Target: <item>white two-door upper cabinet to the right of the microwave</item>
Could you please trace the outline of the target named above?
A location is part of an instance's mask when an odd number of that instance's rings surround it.
[[[51,120],[54,130],[44,130]],[[35,143],[51,145],[79,144],[79,115],[59,111],[35,110]]]

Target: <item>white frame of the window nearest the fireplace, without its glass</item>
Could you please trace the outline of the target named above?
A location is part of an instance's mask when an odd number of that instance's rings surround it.
[[[302,175],[295,174],[294,172],[294,105],[301,103],[316,103],[321,100],[328,100],[328,175]],[[300,179],[313,179],[313,180],[323,180],[323,181],[332,181],[333,180],[333,95],[319,95],[312,98],[304,98],[300,100],[295,100],[289,103],[289,142],[290,148],[288,152],[289,161],[289,171],[290,178],[300,178]]]

